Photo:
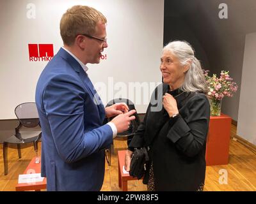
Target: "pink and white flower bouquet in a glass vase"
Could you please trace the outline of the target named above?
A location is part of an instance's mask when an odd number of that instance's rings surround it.
[[[211,101],[211,115],[220,115],[221,99],[224,96],[232,97],[238,86],[236,82],[232,82],[233,78],[229,76],[229,71],[221,71],[220,78],[216,74],[210,77],[208,73],[209,70],[204,71],[209,88],[208,98]]]

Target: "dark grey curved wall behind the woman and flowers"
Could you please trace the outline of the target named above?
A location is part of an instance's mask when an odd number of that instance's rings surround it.
[[[221,3],[228,6],[228,18],[220,19]],[[204,69],[219,74],[229,70],[241,87],[244,43],[247,33],[256,31],[255,0],[166,0],[164,2],[164,43],[186,40],[195,48]],[[240,89],[224,98],[222,112],[237,120]]]

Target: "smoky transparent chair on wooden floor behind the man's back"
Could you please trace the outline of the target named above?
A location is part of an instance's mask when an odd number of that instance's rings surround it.
[[[21,103],[16,106],[15,115],[19,120],[19,125],[15,128],[15,135],[7,138],[3,143],[4,175],[8,174],[8,145],[17,144],[19,158],[21,158],[20,145],[33,143],[37,154],[38,142],[42,135],[41,130],[38,131],[38,129],[35,129],[36,126],[39,126],[38,128],[40,128],[36,103]],[[10,147],[13,148],[13,145],[10,145]]]

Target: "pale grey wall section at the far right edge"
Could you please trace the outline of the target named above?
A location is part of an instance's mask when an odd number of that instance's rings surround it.
[[[246,35],[237,135],[256,145],[256,33]]]

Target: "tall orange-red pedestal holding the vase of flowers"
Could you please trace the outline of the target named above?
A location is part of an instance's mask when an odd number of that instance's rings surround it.
[[[228,164],[231,117],[221,114],[211,116],[206,145],[206,165]]]

